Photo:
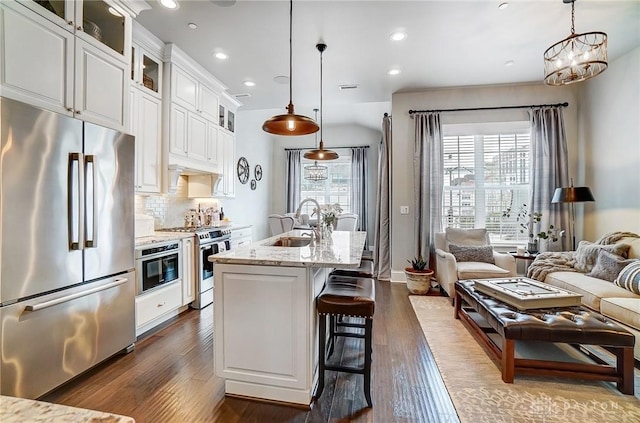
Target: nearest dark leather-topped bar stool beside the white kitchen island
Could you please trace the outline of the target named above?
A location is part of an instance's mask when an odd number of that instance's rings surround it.
[[[324,389],[324,372],[333,370],[361,374],[364,376],[364,396],[367,405],[371,403],[371,353],[373,313],[375,309],[375,281],[369,278],[351,278],[339,275],[329,276],[327,283],[316,299],[316,308],[319,315],[319,342],[318,342],[318,388],[315,399],[320,398]],[[331,319],[330,353],[333,352],[334,340],[338,336],[364,339],[364,366],[341,366],[326,363],[327,359],[327,316]],[[364,333],[337,331],[335,326],[336,316],[359,317],[364,323],[343,323],[349,327],[364,329]]]

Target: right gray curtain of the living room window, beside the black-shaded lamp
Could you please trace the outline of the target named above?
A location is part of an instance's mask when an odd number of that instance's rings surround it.
[[[530,213],[542,213],[539,227],[534,228],[534,231],[540,232],[552,224],[565,230],[566,239],[570,240],[573,234],[567,205],[551,204],[555,189],[569,186],[569,160],[562,108],[532,109],[530,121],[531,193],[528,205]]]

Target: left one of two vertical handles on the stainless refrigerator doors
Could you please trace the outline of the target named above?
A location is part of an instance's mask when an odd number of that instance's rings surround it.
[[[82,250],[80,236],[84,232],[84,175],[80,166],[81,153],[69,153],[69,174],[67,176],[67,220],[70,250]]]

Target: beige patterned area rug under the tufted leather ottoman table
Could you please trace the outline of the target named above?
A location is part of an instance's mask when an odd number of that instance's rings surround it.
[[[636,396],[600,381],[516,376],[507,384],[497,364],[453,318],[447,298],[409,299],[461,422],[640,422],[637,369]]]

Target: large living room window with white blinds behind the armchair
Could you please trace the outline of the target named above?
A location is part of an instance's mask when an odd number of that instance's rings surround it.
[[[444,125],[443,134],[443,227],[485,227],[492,242],[526,241],[516,217],[529,198],[529,123]]]

